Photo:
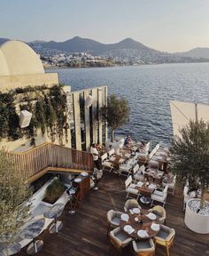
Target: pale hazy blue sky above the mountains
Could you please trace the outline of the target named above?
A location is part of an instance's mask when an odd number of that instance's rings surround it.
[[[209,47],[209,0],[0,0],[0,37],[116,43],[166,52]]]

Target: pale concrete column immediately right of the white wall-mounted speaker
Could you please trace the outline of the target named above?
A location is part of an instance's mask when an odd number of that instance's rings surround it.
[[[92,89],[92,97],[93,97],[93,104],[92,104],[92,118],[93,118],[93,141],[97,143],[97,125],[98,125],[98,119],[97,119],[97,88]]]

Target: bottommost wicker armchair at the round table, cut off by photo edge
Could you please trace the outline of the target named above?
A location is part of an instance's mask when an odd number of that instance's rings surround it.
[[[135,256],[153,256],[155,255],[155,244],[151,239],[133,241]]]

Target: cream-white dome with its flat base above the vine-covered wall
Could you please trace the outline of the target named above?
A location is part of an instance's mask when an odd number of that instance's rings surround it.
[[[0,91],[43,84],[58,84],[58,74],[45,74],[42,61],[32,48],[19,41],[0,46]]]

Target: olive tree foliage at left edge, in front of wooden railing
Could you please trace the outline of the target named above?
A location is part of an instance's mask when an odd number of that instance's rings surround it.
[[[31,191],[4,151],[0,151],[0,163],[0,240],[10,244],[28,217],[30,204],[25,202]]]

